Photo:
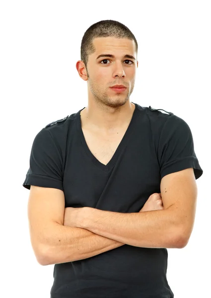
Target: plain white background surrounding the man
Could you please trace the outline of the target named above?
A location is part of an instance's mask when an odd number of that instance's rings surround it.
[[[194,230],[185,248],[168,249],[167,279],[175,298],[211,297],[210,3],[0,2],[1,297],[50,297],[54,265],[34,256],[22,184],[37,133],[87,105],[87,83],[75,65],[84,32],[105,19],[125,24],[139,44],[130,101],[171,111],[191,128],[204,173]]]

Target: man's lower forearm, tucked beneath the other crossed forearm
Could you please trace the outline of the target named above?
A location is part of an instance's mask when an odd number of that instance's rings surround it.
[[[46,240],[43,265],[87,259],[125,244],[83,228],[58,223],[51,227]]]

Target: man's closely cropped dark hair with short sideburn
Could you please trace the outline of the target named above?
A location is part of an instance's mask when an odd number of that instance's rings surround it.
[[[131,30],[124,24],[114,20],[103,20],[91,25],[83,35],[80,47],[80,60],[84,62],[87,69],[88,56],[95,52],[93,39],[96,37],[116,37],[128,38],[136,43],[136,52],[138,53],[138,43]]]

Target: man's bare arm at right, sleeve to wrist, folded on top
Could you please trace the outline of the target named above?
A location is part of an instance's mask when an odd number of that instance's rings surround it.
[[[196,211],[193,168],[164,176],[160,190],[164,210],[124,214],[87,208],[78,226],[133,246],[182,248],[188,243]]]

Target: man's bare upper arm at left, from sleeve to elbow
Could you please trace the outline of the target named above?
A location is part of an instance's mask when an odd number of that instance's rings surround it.
[[[49,229],[64,224],[65,195],[56,188],[31,185],[28,200],[29,231],[37,259],[42,254]]]

